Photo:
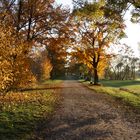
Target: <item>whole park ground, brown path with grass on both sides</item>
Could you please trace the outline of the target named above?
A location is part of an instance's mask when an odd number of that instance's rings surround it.
[[[7,94],[0,99],[1,140],[139,140],[139,81],[102,84],[46,81]]]

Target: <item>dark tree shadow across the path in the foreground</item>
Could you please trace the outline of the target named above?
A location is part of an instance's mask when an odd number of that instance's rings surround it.
[[[87,118],[84,120],[73,120],[72,118],[69,120],[66,119],[62,124],[57,125],[56,127],[51,126],[53,130],[50,130],[45,138],[46,140],[88,140],[89,138],[105,138],[108,137],[108,135],[112,134],[111,131],[90,129],[91,126],[97,125],[99,121],[100,120],[98,120],[97,118]],[[75,133],[75,135],[73,135],[73,133]]]

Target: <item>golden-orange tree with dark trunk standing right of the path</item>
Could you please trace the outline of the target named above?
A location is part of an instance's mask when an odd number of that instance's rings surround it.
[[[124,35],[121,15],[108,16],[105,1],[83,3],[74,10],[78,25],[77,53],[83,63],[93,69],[94,84],[98,84],[99,71],[103,73],[110,58],[107,48]],[[118,20],[119,19],[119,20]]]

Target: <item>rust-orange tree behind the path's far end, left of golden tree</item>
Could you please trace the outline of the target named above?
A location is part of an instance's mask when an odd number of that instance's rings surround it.
[[[65,65],[67,63],[67,45],[68,38],[58,37],[51,38],[50,43],[46,46],[48,58],[50,59],[53,68],[51,71],[51,78],[57,78],[65,75]]]

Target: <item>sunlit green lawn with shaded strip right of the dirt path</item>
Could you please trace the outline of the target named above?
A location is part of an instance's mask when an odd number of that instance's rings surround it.
[[[90,89],[98,92],[109,94],[123,102],[135,107],[140,108],[140,81],[109,81],[103,80],[101,84],[103,86],[90,85],[89,82],[83,82]],[[128,91],[120,90],[120,88],[129,89]],[[134,93],[132,93],[133,91]]]

